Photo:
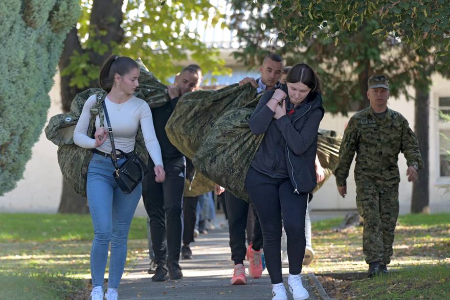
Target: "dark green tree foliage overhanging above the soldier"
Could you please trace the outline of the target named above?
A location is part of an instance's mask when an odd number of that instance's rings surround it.
[[[268,51],[276,51],[287,64],[308,63],[324,83],[323,100],[329,112],[366,107],[366,82],[374,73],[391,78],[392,96],[403,94],[411,99],[408,85],[428,89],[432,72],[450,75],[443,67],[450,65],[450,32],[444,26],[450,8],[434,0],[421,3],[232,0],[237,10],[232,24],[238,28],[240,41],[246,43],[236,56],[252,66],[252,61],[260,60]],[[425,26],[422,16],[414,13],[422,6],[433,8],[436,24]],[[248,10],[254,11],[245,20],[250,29],[242,27],[242,16]],[[435,30],[442,26],[446,31]]]

